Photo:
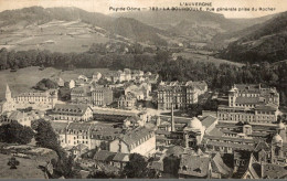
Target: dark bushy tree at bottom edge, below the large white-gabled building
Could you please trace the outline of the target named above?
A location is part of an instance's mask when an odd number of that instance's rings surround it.
[[[139,153],[131,153],[129,162],[125,166],[121,175],[127,178],[148,178],[148,161]]]

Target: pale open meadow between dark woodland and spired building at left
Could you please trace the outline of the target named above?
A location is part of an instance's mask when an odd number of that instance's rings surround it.
[[[75,79],[78,75],[83,74],[87,77],[92,77],[93,73],[100,72],[102,74],[110,72],[107,68],[76,68],[74,71],[64,71],[47,67],[43,71],[40,71],[38,66],[31,66],[26,68],[20,68],[17,72],[10,72],[10,70],[0,72],[0,99],[3,99],[6,85],[8,84],[12,96],[19,93],[31,91],[38,82],[43,78],[57,78],[61,77],[65,82]]]

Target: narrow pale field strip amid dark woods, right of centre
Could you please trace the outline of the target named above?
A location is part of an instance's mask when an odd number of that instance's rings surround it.
[[[216,58],[213,56],[209,56],[209,55],[203,55],[203,54],[196,54],[196,53],[192,53],[192,52],[181,52],[181,53],[174,53],[174,56],[182,56],[184,58],[190,58],[194,62],[209,62],[209,63],[214,63],[215,65],[220,65],[222,63],[225,64],[231,64],[231,65],[235,65],[235,66],[243,66],[244,64],[241,63],[236,63],[236,62],[231,62],[231,61],[226,61],[226,60],[221,60],[221,58]]]

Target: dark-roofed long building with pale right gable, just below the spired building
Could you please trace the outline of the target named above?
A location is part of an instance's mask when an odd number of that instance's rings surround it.
[[[51,116],[54,120],[87,121],[93,119],[93,110],[87,105],[56,104]]]

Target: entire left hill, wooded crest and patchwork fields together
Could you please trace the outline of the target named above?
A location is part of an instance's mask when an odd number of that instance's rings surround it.
[[[93,43],[123,40],[164,45],[158,33],[163,31],[134,19],[115,19],[77,8],[31,7],[0,12],[0,49],[17,51],[85,52]]]

